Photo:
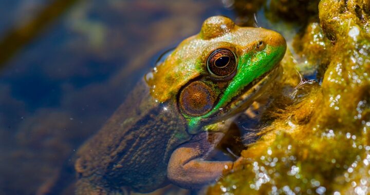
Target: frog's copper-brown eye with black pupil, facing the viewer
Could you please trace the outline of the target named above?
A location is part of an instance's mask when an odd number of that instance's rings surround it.
[[[216,49],[207,60],[208,71],[216,76],[227,76],[236,69],[236,56],[229,49]]]

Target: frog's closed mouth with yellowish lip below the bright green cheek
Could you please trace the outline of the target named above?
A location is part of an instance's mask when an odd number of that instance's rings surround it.
[[[280,66],[274,67],[271,71],[261,75],[253,82],[244,87],[241,95],[234,97],[230,103],[220,110],[217,115],[220,116],[217,121],[226,120],[237,113],[246,110],[260,95],[266,92],[266,89],[281,72]]]

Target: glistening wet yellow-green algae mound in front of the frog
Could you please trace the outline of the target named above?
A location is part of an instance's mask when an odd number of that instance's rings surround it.
[[[330,46],[310,60],[321,85],[297,86],[292,103],[270,113],[260,140],[242,151],[246,161],[208,194],[370,193],[369,5],[320,2],[316,32]]]

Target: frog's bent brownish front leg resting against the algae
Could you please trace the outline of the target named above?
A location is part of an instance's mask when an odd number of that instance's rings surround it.
[[[208,153],[224,136],[222,132],[202,132],[180,145],[171,155],[167,177],[182,188],[200,188],[215,182],[233,167],[232,161],[205,161]]]

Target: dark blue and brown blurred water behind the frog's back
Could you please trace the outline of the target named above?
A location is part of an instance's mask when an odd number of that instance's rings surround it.
[[[271,22],[262,2],[0,0],[0,194],[35,194],[57,178],[158,56],[207,17],[289,42],[299,18]]]

